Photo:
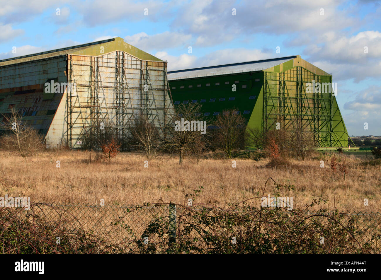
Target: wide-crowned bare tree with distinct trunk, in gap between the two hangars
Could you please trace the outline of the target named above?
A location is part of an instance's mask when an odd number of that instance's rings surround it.
[[[196,120],[197,119],[197,120]],[[184,154],[195,146],[203,145],[202,139],[207,134],[207,125],[201,114],[201,105],[197,103],[180,104],[170,114],[169,125],[166,128],[166,146],[179,154],[179,163]]]

